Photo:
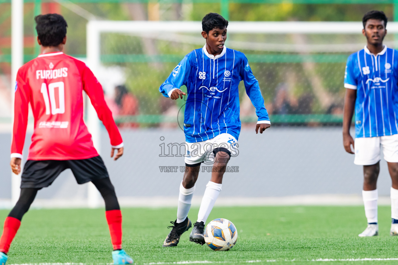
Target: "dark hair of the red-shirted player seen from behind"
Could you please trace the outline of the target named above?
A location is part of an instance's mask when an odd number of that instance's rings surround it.
[[[66,21],[59,14],[35,16],[37,36],[43,46],[58,46],[66,36]]]

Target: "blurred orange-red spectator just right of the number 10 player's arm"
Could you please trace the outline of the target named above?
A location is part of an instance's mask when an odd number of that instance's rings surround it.
[[[115,103],[119,108],[118,116],[133,116],[138,114],[138,100],[126,88],[125,85],[115,87]],[[128,118],[128,117],[125,117]],[[139,123],[121,122],[117,124],[122,128],[138,128]]]

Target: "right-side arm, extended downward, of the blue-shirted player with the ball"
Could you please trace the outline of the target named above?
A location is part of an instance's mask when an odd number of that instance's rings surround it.
[[[264,99],[261,95],[260,87],[258,85],[258,81],[250,69],[249,62],[246,57],[244,57],[244,61],[242,67],[240,68],[240,79],[243,80],[246,94],[249,96],[250,101],[252,101],[253,106],[256,108],[256,114],[258,117],[257,125],[256,125],[256,133],[263,133],[265,129],[271,127],[271,121],[268,117],[268,112],[264,106]]]

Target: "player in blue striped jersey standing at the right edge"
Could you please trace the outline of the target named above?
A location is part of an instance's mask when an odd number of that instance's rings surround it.
[[[351,54],[345,66],[346,88],[343,116],[345,151],[354,154],[354,163],[363,165],[363,202],[368,221],[359,236],[377,236],[377,178],[380,171],[380,146],[392,180],[391,230],[398,235],[398,51],[383,45],[387,17],[382,11],[363,16],[364,49]],[[355,109],[355,141],[349,128]]]

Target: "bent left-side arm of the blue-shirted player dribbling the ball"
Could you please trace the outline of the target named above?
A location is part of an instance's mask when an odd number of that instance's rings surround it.
[[[186,94],[179,88],[187,83],[190,70],[191,65],[189,64],[188,57],[185,56],[174,68],[166,81],[160,85],[159,92],[165,97],[170,97],[170,99],[182,99],[182,96]]]

